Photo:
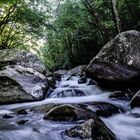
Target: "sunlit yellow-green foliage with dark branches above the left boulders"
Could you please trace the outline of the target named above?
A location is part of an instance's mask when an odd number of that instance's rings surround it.
[[[46,36],[44,33],[50,28],[48,9],[39,9],[44,3],[45,0],[0,1],[0,49],[33,47]]]

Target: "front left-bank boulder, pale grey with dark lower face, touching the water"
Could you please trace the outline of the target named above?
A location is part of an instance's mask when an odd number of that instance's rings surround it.
[[[48,81],[32,68],[6,66],[0,71],[0,104],[41,100],[45,97]]]

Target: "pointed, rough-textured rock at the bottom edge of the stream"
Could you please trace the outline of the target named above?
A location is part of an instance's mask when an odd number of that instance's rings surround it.
[[[77,125],[65,131],[69,137],[82,140],[115,140],[116,137],[100,118],[94,116],[92,119],[87,120],[85,123]]]

